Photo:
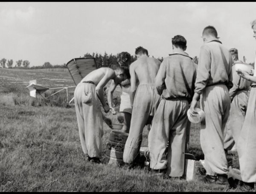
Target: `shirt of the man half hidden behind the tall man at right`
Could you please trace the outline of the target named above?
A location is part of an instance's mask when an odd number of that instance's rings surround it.
[[[235,61],[235,62],[240,62],[240,61]],[[250,81],[242,78],[241,76],[239,76],[237,74],[236,68],[235,68],[235,63],[233,63],[233,65],[232,65],[232,74],[233,74],[233,81],[232,81],[233,87],[229,91],[231,100],[233,100],[233,98],[236,96],[236,93],[239,90],[247,91],[250,89]]]

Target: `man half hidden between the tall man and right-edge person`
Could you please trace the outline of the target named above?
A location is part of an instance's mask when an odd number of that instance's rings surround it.
[[[232,65],[233,87],[229,91],[231,99],[230,115],[225,128],[227,133],[224,139],[224,149],[226,152],[236,147],[235,143],[238,142],[247,110],[250,89],[250,81],[240,77],[236,72],[235,63],[242,63],[238,59],[238,50],[230,48],[230,53],[234,63]]]

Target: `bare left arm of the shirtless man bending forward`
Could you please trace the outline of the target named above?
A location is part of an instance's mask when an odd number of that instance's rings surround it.
[[[105,76],[99,81],[98,85],[96,86],[95,90],[98,94],[99,100],[102,103],[102,106],[105,110],[105,112],[109,111],[109,106],[107,105],[105,99],[104,99],[104,86],[108,83],[109,80],[111,80],[114,77],[115,73],[114,71],[107,71]]]

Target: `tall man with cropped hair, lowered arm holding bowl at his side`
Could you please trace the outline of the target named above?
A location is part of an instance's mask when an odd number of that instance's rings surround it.
[[[222,46],[213,26],[204,28],[202,38],[204,45],[200,49],[195,94],[190,106],[193,116],[201,95],[200,107],[205,112],[205,120],[201,122],[200,141],[206,168],[206,176],[202,180],[228,184],[223,132],[230,111],[233,59],[229,50]]]

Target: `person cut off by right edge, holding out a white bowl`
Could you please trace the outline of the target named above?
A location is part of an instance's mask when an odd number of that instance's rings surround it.
[[[253,37],[256,39],[256,20],[252,22]],[[256,59],[254,66],[256,64]],[[256,182],[256,68],[251,76],[249,72],[238,69],[237,73],[246,80],[253,82],[248,100],[244,125],[238,140],[238,156],[241,178],[244,182],[242,191],[251,191]]]

